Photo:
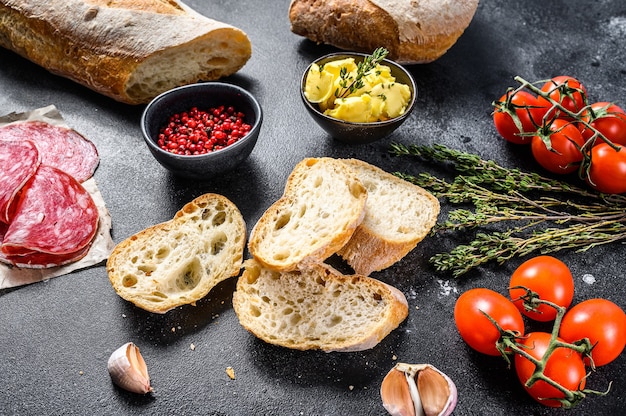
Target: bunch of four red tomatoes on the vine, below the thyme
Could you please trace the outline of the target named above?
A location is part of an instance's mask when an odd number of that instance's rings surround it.
[[[606,365],[622,353],[626,314],[615,303],[600,298],[570,308],[572,273],[551,256],[522,263],[511,276],[508,295],[487,288],[464,292],[454,308],[461,338],[483,354],[502,355],[508,362],[513,355],[520,383],[539,403],[576,405],[592,392],[585,390],[587,368]],[[523,317],[554,321],[553,330],[526,332]],[[544,360],[543,368],[533,359]]]

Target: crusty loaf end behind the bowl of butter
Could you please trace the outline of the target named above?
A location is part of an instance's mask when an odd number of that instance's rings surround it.
[[[469,26],[478,0],[292,0],[291,31],[317,43],[404,64],[441,57]]]

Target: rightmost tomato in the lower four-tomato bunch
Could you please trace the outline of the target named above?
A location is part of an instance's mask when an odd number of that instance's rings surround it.
[[[603,366],[615,360],[626,344],[626,314],[607,299],[589,299],[567,311],[559,330],[567,342],[589,338],[593,363]]]

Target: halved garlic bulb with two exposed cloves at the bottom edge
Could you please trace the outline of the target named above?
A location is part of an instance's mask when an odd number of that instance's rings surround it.
[[[448,416],[457,403],[452,380],[430,364],[396,364],[383,379],[380,395],[392,416]]]

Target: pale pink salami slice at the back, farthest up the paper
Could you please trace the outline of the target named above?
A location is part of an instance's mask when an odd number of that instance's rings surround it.
[[[100,162],[96,146],[75,130],[43,121],[0,127],[0,140],[30,140],[39,149],[41,163],[61,169],[78,182],[89,179]]]

